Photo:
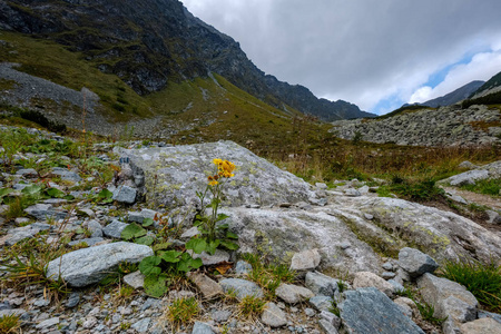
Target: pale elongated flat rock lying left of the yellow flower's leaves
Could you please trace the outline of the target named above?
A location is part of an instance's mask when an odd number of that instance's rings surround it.
[[[154,255],[150,247],[131,243],[114,243],[78,249],[51,261],[47,276],[52,281],[62,278],[73,287],[98,283],[121,263],[138,263]]]

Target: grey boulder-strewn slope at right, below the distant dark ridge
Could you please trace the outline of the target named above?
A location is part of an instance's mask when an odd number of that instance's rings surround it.
[[[405,111],[405,110],[403,110]],[[413,146],[479,146],[501,143],[501,112],[473,105],[418,109],[389,118],[340,120],[332,132],[344,139]]]

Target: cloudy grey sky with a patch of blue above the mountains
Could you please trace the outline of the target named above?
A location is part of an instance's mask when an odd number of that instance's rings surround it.
[[[263,71],[384,114],[501,71],[500,0],[181,0]]]

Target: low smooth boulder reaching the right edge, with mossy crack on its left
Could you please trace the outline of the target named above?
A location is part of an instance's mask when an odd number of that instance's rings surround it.
[[[345,222],[374,250],[397,256],[412,245],[436,262],[471,257],[501,259],[501,234],[434,207],[387,197],[336,197],[318,208]],[[374,216],[373,220],[363,215]]]

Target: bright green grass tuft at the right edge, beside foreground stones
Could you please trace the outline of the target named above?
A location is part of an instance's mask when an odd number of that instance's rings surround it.
[[[464,285],[489,311],[501,312],[501,267],[494,261],[448,262],[441,275]]]

